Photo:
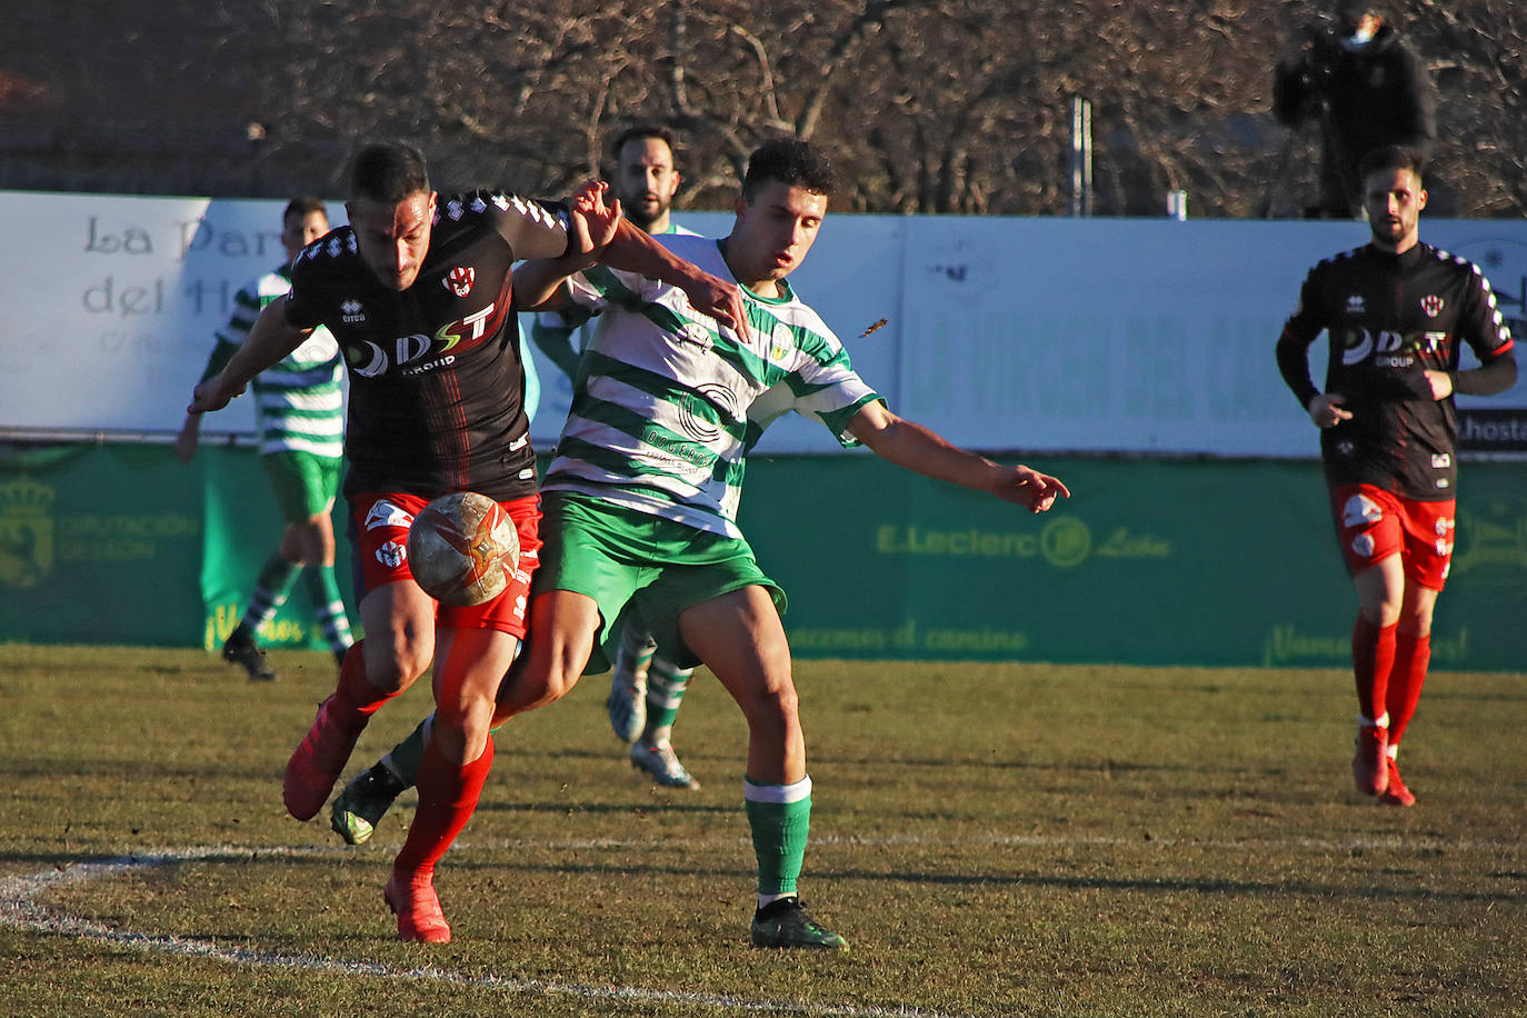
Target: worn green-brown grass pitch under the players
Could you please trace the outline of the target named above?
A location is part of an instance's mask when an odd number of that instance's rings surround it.
[[[1527,1013],[1521,673],[1431,678],[1400,810],[1353,789],[1336,670],[800,662],[802,894],[854,946],[820,957],[747,945],[745,733],[704,672],[698,792],[629,768],[606,676],[499,733],[426,948],[382,904],[412,794],[354,849],[286,817],[333,665],[273,661],[0,646],[0,1013]]]

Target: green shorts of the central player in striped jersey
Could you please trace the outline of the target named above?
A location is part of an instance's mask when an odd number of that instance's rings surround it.
[[[542,495],[541,568],[531,594],[573,591],[599,604],[600,629],[585,675],[615,659],[626,615],[641,624],[673,664],[699,658],[684,644],[678,617],[713,597],[762,586],[785,614],[785,591],[764,575],[748,542],[611,505],[573,491]]]

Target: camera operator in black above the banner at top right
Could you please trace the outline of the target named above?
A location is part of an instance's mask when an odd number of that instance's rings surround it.
[[[1358,165],[1371,150],[1403,145],[1423,157],[1437,137],[1432,85],[1383,12],[1336,0],[1335,23],[1304,31],[1304,47],[1278,64],[1272,111],[1280,124],[1321,127],[1321,198],[1315,218],[1361,215]]]

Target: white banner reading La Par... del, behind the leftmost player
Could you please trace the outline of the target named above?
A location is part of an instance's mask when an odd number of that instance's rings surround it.
[[[282,208],[0,192],[0,429],[179,430],[234,295],[286,261]],[[206,421],[252,427],[249,400]]]

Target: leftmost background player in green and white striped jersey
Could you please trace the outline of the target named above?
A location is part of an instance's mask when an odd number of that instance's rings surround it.
[[[234,296],[234,314],[217,334],[208,359],[206,382],[234,356],[261,308],[292,288],[292,261],[307,244],[328,232],[328,215],[318,198],[292,198],[281,214],[281,246],[287,261]],[[330,510],[339,491],[344,456],[345,398],[339,343],[325,328],[253,380],[260,461],[270,478],[286,520],[281,543],[255,580],[255,591],[238,627],[223,643],[223,659],[244,667],[250,679],[270,681],[275,672],[257,643],[302,572],[324,641],[344,661],[350,649],[350,618],[334,581],[334,523]],[[191,462],[202,433],[202,414],[186,414],[176,437],[176,455]]]

